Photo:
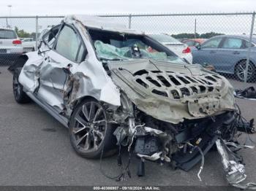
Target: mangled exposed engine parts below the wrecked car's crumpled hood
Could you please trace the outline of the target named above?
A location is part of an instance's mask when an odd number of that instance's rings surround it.
[[[157,120],[154,117],[140,111],[135,104],[121,93],[122,106],[109,117],[118,124],[114,135],[119,146],[127,146],[129,152],[135,153],[140,158],[138,164],[138,176],[145,175],[144,163],[146,160],[154,162],[170,163],[173,168],[189,171],[201,161],[200,172],[203,170],[204,155],[217,145],[219,153],[225,153],[228,148],[226,143],[238,146],[236,134],[238,130],[251,132],[251,122],[242,121],[239,110],[224,112],[213,117],[204,117],[195,120],[184,120],[178,124]],[[124,120],[125,119],[125,120]],[[221,155],[222,156],[222,155]],[[242,158],[237,157],[231,163],[228,157],[222,156],[224,169],[227,171],[227,181],[236,187],[252,187],[238,184],[246,178]],[[225,162],[226,161],[226,162]],[[231,169],[232,168],[232,169]],[[230,170],[231,169],[231,170]]]

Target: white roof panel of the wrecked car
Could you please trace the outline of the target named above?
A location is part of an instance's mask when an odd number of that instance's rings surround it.
[[[124,24],[117,23],[110,17],[97,17],[90,15],[68,15],[64,18],[65,23],[72,23],[72,20],[80,21],[83,26],[89,28],[99,28],[105,31],[116,31],[129,34],[144,34],[142,31],[135,31],[127,28]]]

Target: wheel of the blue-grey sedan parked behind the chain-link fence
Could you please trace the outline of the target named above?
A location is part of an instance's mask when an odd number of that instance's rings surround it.
[[[240,61],[236,64],[235,75],[236,79],[241,82],[244,82],[244,74],[246,69],[246,60]],[[256,69],[252,62],[249,62],[248,73],[247,73],[247,82],[251,82],[255,78]]]

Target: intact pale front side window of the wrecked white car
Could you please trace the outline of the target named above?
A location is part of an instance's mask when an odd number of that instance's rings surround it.
[[[85,50],[80,46],[82,46],[80,36],[69,26],[64,26],[56,42],[56,52],[70,61],[81,61]]]

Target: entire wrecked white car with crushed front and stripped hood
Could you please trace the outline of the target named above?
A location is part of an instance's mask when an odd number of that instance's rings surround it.
[[[252,121],[239,122],[233,87],[143,32],[72,15],[9,70],[15,100],[33,100],[69,128],[72,147],[83,157],[127,146],[141,159],[143,176],[145,160],[188,171],[216,144],[230,184],[246,177],[240,160],[227,156],[228,145],[241,147],[238,128],[252,129]]]

